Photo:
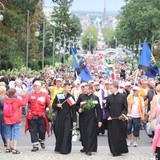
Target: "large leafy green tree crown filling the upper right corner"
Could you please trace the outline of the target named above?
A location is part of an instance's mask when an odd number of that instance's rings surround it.
[[[158,0],[125,0],[119,15],[116,37],[122,44],[151,42],[160,35],[160,3]]]

